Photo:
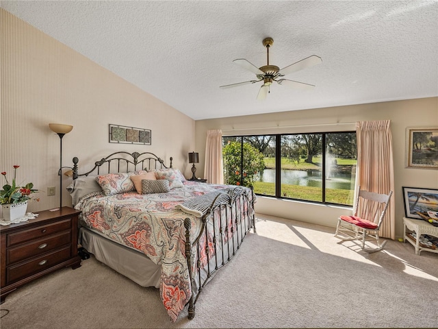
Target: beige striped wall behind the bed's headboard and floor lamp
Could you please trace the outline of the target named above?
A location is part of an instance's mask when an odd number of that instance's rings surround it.
[[[64,166],[77,156],[79,165],[88,164],[85,171],[114,151],[151,151],[166,163],[173,156],[174,167],[190,177],[193,119],[1,8],[0,15],[0,171],[12,178],[18,164],[18,182],[42,191],[29,211],[60,204],[60,138],[48,123],[74,126],[62,140]],[[152,145],[108,143],[109,123],[151,129]],[[63,181],[65,188],[70,178],[63,175]],[[55,186],[55,196],[47,196],[48,186]],[[63,205],[70,204],[64,190]]]

